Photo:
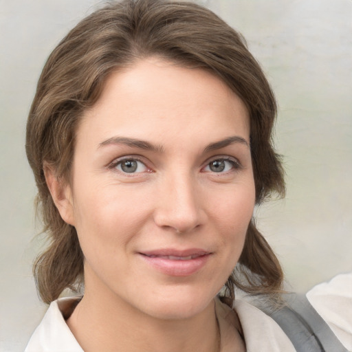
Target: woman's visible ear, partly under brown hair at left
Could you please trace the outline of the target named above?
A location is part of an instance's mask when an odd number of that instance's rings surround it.
[[[56,208],[58,208],[58,212],[60,212],[63,221],[74,226],[74,202],[71,187],[63,179],[55,175],[52,166],[45,163],[43,170],[47,187],[50,190]]]

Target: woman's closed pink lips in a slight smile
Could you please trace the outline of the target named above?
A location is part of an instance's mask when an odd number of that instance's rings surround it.
[[[138,252],[138,254],[158,272],[169,276],[190,276],[206,265],[212,252],[199,248],[187,250],[165,248]]]

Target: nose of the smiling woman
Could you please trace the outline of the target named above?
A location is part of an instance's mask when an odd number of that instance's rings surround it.
[[[191,232],[206,222],[201,189],[189,175],[174,175],[159,187],[154,221],[164,229]]]

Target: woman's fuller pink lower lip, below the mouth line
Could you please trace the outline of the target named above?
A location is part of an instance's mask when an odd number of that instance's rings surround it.
[[[189,259],[187,261],[175,261],[157,256],[150,257],[140,254],[142,259],[144,259],[144,261],[154,267],[157,271],[170,276],[190,276],[196,272],[199,272],[199,270],[206,265],[210,255],[211,254],[197,256],[197,258]]]

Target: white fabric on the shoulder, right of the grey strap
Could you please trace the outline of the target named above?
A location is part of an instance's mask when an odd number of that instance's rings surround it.
[[[352,351],[352,272],[316,285],[307,298],[338,340]]]

